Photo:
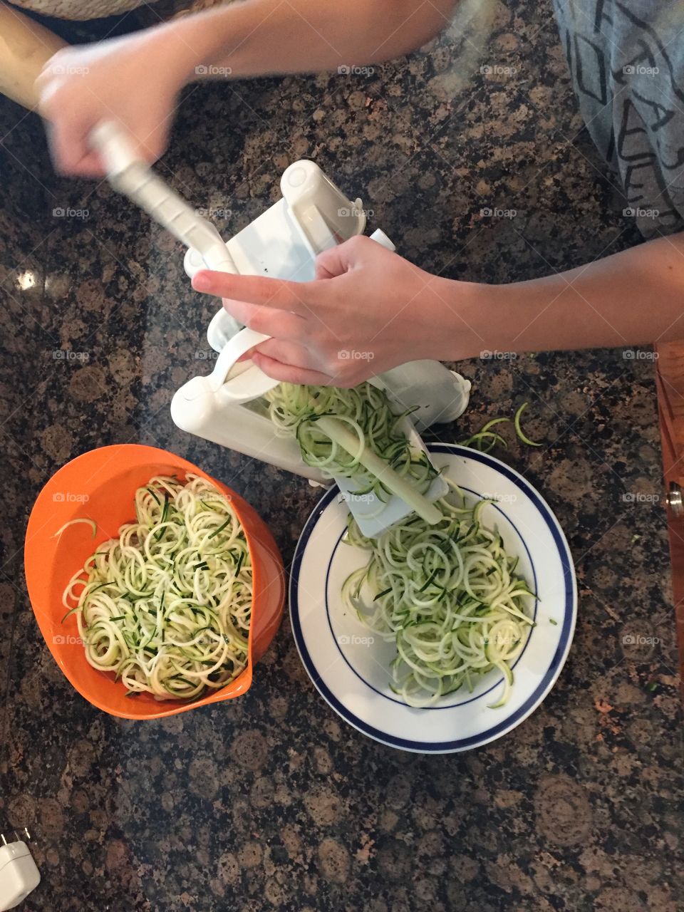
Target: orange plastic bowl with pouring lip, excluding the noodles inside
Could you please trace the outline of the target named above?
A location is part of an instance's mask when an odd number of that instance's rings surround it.
[[[68,581],[98,545],[119,534],[119,526],[134,518],[134,496],[153,475],[176,474],[184,479],[194,472],[231,498],[242,523],[252,557],[254,596],[247,667],[236,679],[200,700],[155,700],[151,694],[131,699],[113,674],[92,668],[78,637],[76,617],[67,617],[62,594]],[[92,519],[70,525],[70,520]],[[57,665],[81,696],[99,710],[124,719],[160,719],[207,703],[239,697],[252,684],[254,662],[264,655],[280,624],[285,603],[285,571],[273,535],[239,494],[231,491],[174,453],[124,443],[101,447],[67,462],[38,495],[26,530],[24,549],[26,584],[38,626]]]

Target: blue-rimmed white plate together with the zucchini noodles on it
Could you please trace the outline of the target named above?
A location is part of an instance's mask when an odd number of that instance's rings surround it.
[[[343,719],[405,751],[465,751],[519,725],[553,688],[575,630],[560,525],[489,453],[429,444],[440,519],[362,535],[337,487],[295,551],[290,614],[309,677]]]

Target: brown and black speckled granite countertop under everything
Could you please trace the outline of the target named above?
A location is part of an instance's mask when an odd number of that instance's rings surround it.
[[[195,204],[230,209],[218,222],[234,232],[276,199],[290,161],[314,158],[401,252],[452,277],[512,281],[637,243],[580,132],[549,5],[494,13],[482,55],[482,36],[452,31],[364,77],[189,89],[160,170]],[[581,593],[556,687],[502,740],[446,757],[369,741],[319,698],[286,620],[244,698],[110,718],[62,677],[26,599],[26,518],[47,478],[103,444],[168,448],[243,493],[288,565],[316,493],[173,427],[171,394],[199,372],[215,305],[128,202],[52,175],[33,116],[0,104],[0,135],[0,826],[35,834],[43,881],[24,908],[679,912],[666,524],[654,498],[624,498],[661,491],[652,361],[461,365],[472,409],[440,439],[530,401],[544,447],[510,440],[505,459],[552,505]],[[630,633],[656,642],[629,646]]]

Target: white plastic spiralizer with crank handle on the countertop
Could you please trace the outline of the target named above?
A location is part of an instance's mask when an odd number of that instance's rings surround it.
[[[128,138],[116,125],[101,124],[92,141],[106,162],[112,185],[188,247],[184,263],[191,278],[201,269],[212,269],[310,281],[317,254],[366,228],[360,199],[348,200],[315,162],[295,161],[280,181],[282,199],[223,242],[212,223],[133,155]],[[385,233],[378,230],[370,236],[378,244],[395,249]],[[212,373],[189,379],[175,393],[171,417],[181,430],[295,472],[311,482],[328,484],[318,469],[302,461],[296,440],[275,432],[263,397],[278,381],[267,377],[251,360],[238,361],[266,338],[237,324],[223,308],[219,310],[207,330],[209,345],[217,353]],[[387,389],[398,411],[416,409],[404,420],[404,427],[412,445],[423,450],[419,431],[458,418],[468,404],[471,389],[469,380],[430,360],[392,368],[373,382]],[[356,498],[353,494],[358,482],[347,478],[335,478],[335,482],[366,535],[380,534],[410,512],[396,495],[387,502],[375,495]],[[446,482],[438,476],[426,496],[435,500],[445,492]]]

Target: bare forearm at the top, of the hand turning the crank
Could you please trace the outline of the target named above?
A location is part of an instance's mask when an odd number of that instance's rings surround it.
[[[398,57],[447,25],[455,0],[243,0],[155,29],[186,81],[314,72]]]

